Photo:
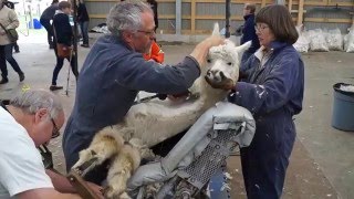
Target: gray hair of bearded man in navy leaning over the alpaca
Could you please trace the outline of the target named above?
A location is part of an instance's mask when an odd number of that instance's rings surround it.
[[[107,28],[113,35],[121,36],[125,30],[136,31],[142,28],[142,13],[153,12],[152,8],[139,0],[116,3],[107,15]]]

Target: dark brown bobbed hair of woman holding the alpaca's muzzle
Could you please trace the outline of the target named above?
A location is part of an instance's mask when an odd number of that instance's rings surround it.
[[[287,7],[270,4],[262,8],[256,15],[256,23],[266,23],[273,32],[275,40],[293,44],[299,34]]]

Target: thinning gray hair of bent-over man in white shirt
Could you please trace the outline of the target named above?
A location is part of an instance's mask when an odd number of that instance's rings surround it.
[[[58,96],[44,90],[21,92],[10,101],[10,105],[28,114],[35,114],[40,108],[46,108],[51,118],[56,118],[58,114],[63,111]]]

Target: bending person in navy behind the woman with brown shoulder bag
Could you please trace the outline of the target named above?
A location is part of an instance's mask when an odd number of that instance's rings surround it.
[[[52,4],[43,11],[40,18],[41,24],[46,30],[49,49],[54,49],[54,44],[53,44],[54,33],[53,33],[51,20],[53,20],[55,11],[59,9],[58,3],[59,3],[59,0],[53,0]]]

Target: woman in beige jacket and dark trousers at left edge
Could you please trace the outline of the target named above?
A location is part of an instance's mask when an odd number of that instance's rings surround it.
[[[0,84],[6,84],[9,82],[7,61],[19,74],[20,82],[24,80],[23,72],[21,71],[18,62],[12,56],[12,48],[14,41],[11,39],[11,35],[8,35],[11,31],[15,31],[14,29],[18,27],[18,15],[13,10],[4,7],[3,1],[0,0],[0,70],[2,76]]]

